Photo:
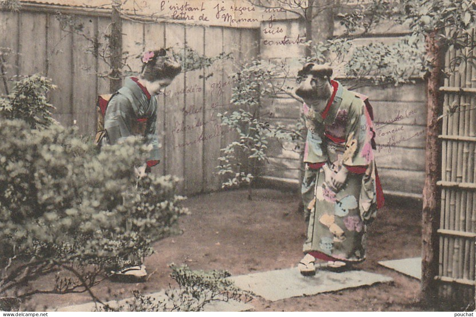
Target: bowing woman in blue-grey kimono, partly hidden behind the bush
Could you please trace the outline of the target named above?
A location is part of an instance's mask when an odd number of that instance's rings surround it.
[[[132,135],[143,136],[145,142],[152,145],[149,160],[136,171],[139,176],[150,172],[152,166],[159,164],[159,139],[156,133],[158,107],[155,96],[180,71],[180,65],[170,60],[166,50],[147,51],[142,56],[140,75],[126,78],[124,86],[110,97],[109,102],[106,101],[101,146],[119,143]],[[145,266],[141,265],[141,259],[125,256],[136,266],[112,272],[113,276],[123,281],[144,281],[147,272]]]

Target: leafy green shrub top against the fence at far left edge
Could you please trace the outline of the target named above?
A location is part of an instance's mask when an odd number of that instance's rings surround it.
[[[54,123],[47,93],[55,88],[50,79],[38,74],[16,82],[12,92],[0,98],[0,116],[7,119],[21,119],[31,128],[44,128]]]

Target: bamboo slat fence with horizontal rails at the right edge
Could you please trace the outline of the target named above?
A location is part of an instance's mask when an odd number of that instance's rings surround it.
[[[475,42],[472,30],[466,41]],[[466,54],[468,51],[466,51]],[[451,73],[444,93],[442,140],[441,215],[439,235],[439,291],[449,301],[474,301],[476,286],[476,68],[449,65],[461,56],[450,49],[445,64]],[[474,56],[474,55],[473,55]]]

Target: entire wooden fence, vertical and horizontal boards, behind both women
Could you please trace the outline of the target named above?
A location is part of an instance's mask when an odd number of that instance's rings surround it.
[[[93,52],[94,41],[105,42],[110,31],[110,13],[106,10],[90,10],[44,5],[42,10],[25,7],[18,13],[1,12],[0,47],[13,49],[7,61],[10,74],[28,75],[40,72],[53,79],[58,89],[50,101],[57,107],[55,117],[65,125],[76,124],[83,134],[95,130],[94,100],[99,93],[109,91],[105,74],[109,67]],[[55,12],[58,11],[58,12]],[[75,25],[81,26],[80,34],[64,30],[58,13],[74,17]],[[268,13],[270,14],[270,13]],[[274,15],[275,13],[273,13]],[[139,23],[123,20],[123,51],[130,69],[138,70],[139,59],[134,56],[145,48],[158,46],[188,46],[207,56],[220,52],[232,52],[235,60],[213,65],[206,70],[213,74],[207,80],[200,78],[202,71],[181,74],[167,89],[159,102],[158,131],[163,145],[163,160],[156,170],[161,174],[182,177],[185,192],[199,193],[219,189],[220,180],[214,172],[218,164],[219,149],[233,137],[223,130],[216,112],[229,110],[232,85],[228,75],[237,61],[296,58],[303,55],[303,46],[269,45],[283,40],[293,42],[304,38],[302,25],[297,20],[274,21],[274,30],[267,32],[267,21],[261,28],[229,28],[225,26],[199,26],[184,23]],[[337,25],[338,23],[336,23]],[[359,39],[357,45],[370,41],[391,41],[395,34],[385,33],[377,37]],[[2,88],[0,88],[2,89]],[[424,153],[426,108],[424,84],[417,83],[401,88],[361,89],[369,95],[375,108],[377,127],[377,165],[387,194],[419,197],[424,181]],[[272,113],[271,121],[294,124],[299,118],[301,104],[291,98],[265,99],[266,112]],[[203,123],[203,124],[202,124]],[[201,133],[211,136],[205,140]],[[292,144],[287,148],[291,149]],[[302,163],[299,155],[291,150],[271,148],[267,176],[299,183],[298,174]]]

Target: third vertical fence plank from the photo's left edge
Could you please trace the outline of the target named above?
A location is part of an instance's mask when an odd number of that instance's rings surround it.
[[[54,118],[69,126],[72,122],[72,56],[73,35],[61,29],[60,21],[48,16],[48,74],[57,88],[50,93],[50,102],[56,108]]]

